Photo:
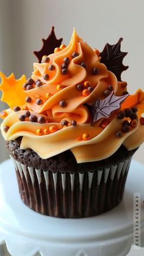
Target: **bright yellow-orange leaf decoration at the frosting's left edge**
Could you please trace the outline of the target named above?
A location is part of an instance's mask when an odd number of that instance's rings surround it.
[[[23,84],[26,82],[26,76],[21,76],[20,79],[15,79],[13,73],[6,77],[0,72],[0,78],[2,79],[0,84],[0,90],[2,90],[1,101],[7,103],[10,108],[14,106],[22,106],[26,103],[26,94],[23,90]]]

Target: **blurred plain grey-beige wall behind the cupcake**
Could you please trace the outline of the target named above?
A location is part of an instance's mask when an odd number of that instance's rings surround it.
[[[16,78],[31,75],[32,63],[37,61],[33,51],[42,46],[51,26],[58,38],[69,43],[73,27],[93,48],[100,51],[104,45],[116,43],[123,37],[122,50],[128,51],[124,64],[129,69],[122,78],[133,93],[144,89],[144,32],[143,0],[0,0],[0,70],[5,75],[15,73]],[[4,109],[0,103],[0,111]],[[144,145],[135,159],[144,163]],[[0,135],[0,161],[7,158]]]

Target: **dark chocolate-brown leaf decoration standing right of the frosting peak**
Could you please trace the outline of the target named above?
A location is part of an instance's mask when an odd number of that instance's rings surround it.
[[[121,73],[128,69],[128,66],[123,65],[123,58],[128,53],[121,51],[121,42],[123,38],[120,38],[115,45],[104,46],[103,51],[100,53],[101,63],[106,65],[107,69],[112,71],[117,76],[118,81],[121,81]]]

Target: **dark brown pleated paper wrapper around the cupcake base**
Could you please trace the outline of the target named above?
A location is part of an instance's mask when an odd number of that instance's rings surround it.
[[[20,196],[27,206],[48,216],[82,218],[96,216],[120,203],[131,159],[73,174],[35,169],[15,159],[13,163]]]

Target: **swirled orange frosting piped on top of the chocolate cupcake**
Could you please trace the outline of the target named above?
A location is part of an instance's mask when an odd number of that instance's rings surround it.
[[[76,52],[79,55],[72,57]],[[91,125],[92,115],[86,104],[93,104],[98,99],[104,99],[104,91],[111,85],[117,96],[123,95],[126,91],[126,82],[118,82],[116,76],[107,70],[104,64],[99,61],[99,51],[94,51],[77,35],[74,30],[70,44],[62,46],[59,51],[50,54],[49,63],[34,63],[32,79],[39,79],[43,85],[33,89],[24,90],[23,83],[25,76],[15,80],[13,74],[9,78],[0,73],[2,83],[0,89],[3,92],[2,100],[9,104],[11,109],[3,111],[0,116],[4,119],[1,125],[2,135],[5,140],[14,140],[22,136],[21,148],[31,147],[41,158],[46,159],[70,149],[73,152],[77,163],[97,161],[112,155],[121,144],[128,150],[138,147],[144,141],[144,126],[139,119],[144,112],[144,92],[138,90],[134,95],[129,95],[121,103],[121,109],[113,112],[109,119],[100,119]],[[68,57],[67,74],[62,74],[63,59]],[[86,67],[80,65],[85,63]],[[54,69],[49,70],[49,66]],[[98,68],[98,74],[93,75],[93,68]],[[49,79],[46,80],[45,74]],[[82,84],[82,90],[77,85]],[[92,91],[88,90],[92,87]],[[31,97],[31,102],[26,103],[25,98]],[[41,104],[37,104],[37,99]],[[60,104],[63,101],[65,106]],[[21,111],[14,112],[13,106],[20,106]],[[126,108],[137,106],[138,118],[135,125],[123,136],[115,134],[121,130],[123,120],[117,118],[117,112]],[[26,117],[20,122],[20,115],[29,109],[31,115],[45,117],[45,123],[29,122]],[[67,125],[62,126],[66,120]],[[71,125],[72,121],[77,125]],[[4,127],[9,126],[5,133]]]

